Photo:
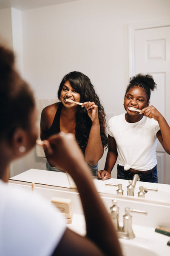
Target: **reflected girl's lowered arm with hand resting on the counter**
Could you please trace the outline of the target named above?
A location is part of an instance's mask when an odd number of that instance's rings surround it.
[[[105,162],[105,169],[97,172],[97,177],[102,180],[107,180],[111,178],[111,171],[117,160],[117,147],[116,141],[110,135],[108,136],[108,154]]]

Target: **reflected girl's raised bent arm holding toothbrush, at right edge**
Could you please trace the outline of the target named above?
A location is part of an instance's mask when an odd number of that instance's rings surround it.
[[[160,130],[157,132],[156,136],[167,154],[170,154],[170,127],[164,119],[164,116],[153,106],[143,108],[140,113],[144,113],[144,116],[158,121]]]

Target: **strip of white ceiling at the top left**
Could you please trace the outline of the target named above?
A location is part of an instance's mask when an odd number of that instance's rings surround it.
[[[79,0],[0,0],[0,9],[15,8],[20,11],[39,8],[42,6],[50,6],[59,3],[68,3]]]

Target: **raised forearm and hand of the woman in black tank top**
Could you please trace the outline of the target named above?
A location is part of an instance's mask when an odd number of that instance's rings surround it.
[[[86,108],[92,122],[88,143],[85,148],[85,160],[88,164],[94,165],[102,157],[104,151],[100,136],[98,107],[94,102],[84,102],[82,108],[83,107]]]

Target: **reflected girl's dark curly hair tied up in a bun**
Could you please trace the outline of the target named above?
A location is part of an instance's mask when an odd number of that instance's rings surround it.
[[[138,86],[142,87],[146,94],[147,94],[147,102],[150,100],[150,91],[153,91],[156,89],[156,83],[153,80],[153,77],[149,74],[143,75],[143,74],[138,74],[136,76],[133,76],[130,78],[130,83],[127,86],[125,96],[127,92],[130,90],[130,88]]]

